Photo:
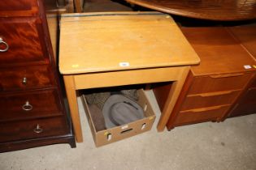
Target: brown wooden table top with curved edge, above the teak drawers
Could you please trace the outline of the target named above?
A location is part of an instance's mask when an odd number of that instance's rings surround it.
[[[126,0],[156,11],[195,19],[221,21],[256,19],[256,1],[247,0]]]

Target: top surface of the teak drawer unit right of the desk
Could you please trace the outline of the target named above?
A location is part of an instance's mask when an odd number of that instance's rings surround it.
[[[200,66],[192,66],[193,74],[232,74],[252,71],[254,59],[227,28],[181,28],[190,45],[202,60]],[[221,62],[219,62],[221,60]],[[238,76],[238,75],[237,75]]]

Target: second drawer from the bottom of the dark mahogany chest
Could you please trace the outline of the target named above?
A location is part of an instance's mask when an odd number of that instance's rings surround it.
[[[0,96],[0,121],[51,117],[62,113],[56,89]]]

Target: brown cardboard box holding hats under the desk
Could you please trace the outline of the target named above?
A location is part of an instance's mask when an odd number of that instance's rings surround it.
[[[121,139],[129,138],[136,134],[141,134],[145,131],[151,130],[155,119],[154,111],[152,109],[152,106],[150,105],[147,96],[145,96],[145,91],[142,89],[137,90],[137,94],[139,96],[139,100],[137,103],[140,104],[141,107],[144,109],[145,117],[137,121],[132,121],[126,125],[119,125],[111,129],[100,131],[97,131],[95,129],[91,116],[92,113],[89,110],[88,104],[85,100],[85,96],[81,96],[96,147],[101,147],[111,142],[116,142]]]

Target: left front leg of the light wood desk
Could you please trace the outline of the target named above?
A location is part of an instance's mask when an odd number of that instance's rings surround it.
[[[67,101],[72,117],[72,124],[76,136],[76,142],[83,142],[83,134],[80,125],[80,116],[76,99],[76,87],[72,75],[63,75],[64,83],[67,92]]]

